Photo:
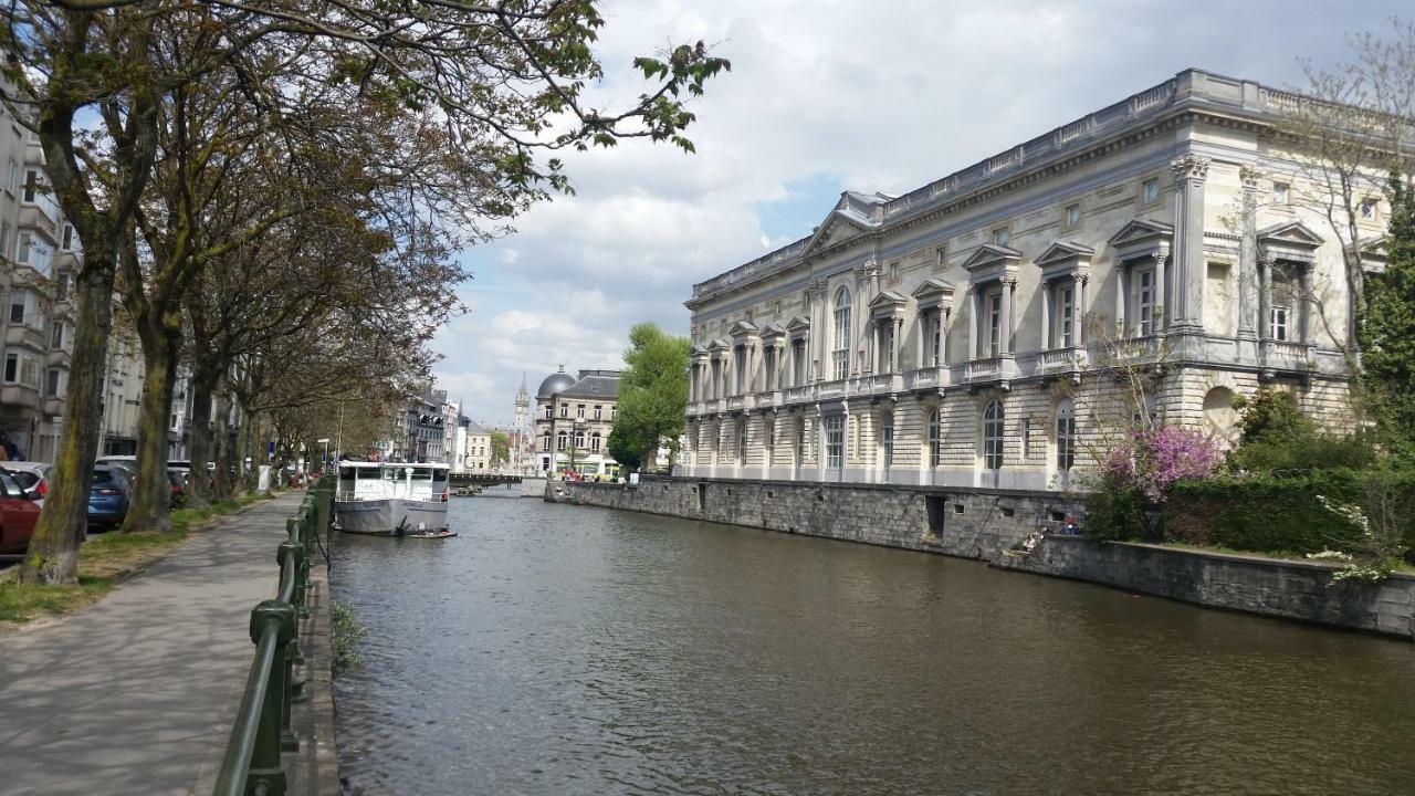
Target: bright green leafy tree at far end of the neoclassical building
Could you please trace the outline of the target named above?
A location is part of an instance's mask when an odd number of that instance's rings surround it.
[[[659,446],[669,449],[671,459],[678,455],[688,408],[691,344],[652,323],[635,324],[628,339],[608,445],[610,455],[633,470],[655,462]]]

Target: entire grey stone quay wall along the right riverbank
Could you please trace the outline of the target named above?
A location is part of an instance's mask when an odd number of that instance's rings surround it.
[[[638,486],[548,482],[550,501],[666,514],[976,558],[1002,569],[1104,584],[1228,610],[1415,639],[1415,576],[1333,582],[1334,567],[1099,542],[1039,528],[1082,517],[1077,497],[965,487],[642,477]]]

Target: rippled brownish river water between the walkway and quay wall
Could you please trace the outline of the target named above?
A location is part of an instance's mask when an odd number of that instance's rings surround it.
[[[347,793],[1415,793],[1408,642],[512,494],[335,540]]]

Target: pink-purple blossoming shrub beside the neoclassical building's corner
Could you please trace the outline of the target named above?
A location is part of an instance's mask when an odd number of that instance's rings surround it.
[[[1169,487],[1184,479],[1206,479],[1218,470],[1224,453],[1211,435],[1179,426],[1131,431],[1105,452],[1102,477],[1138,490],[1152,504],[1165,503]]]

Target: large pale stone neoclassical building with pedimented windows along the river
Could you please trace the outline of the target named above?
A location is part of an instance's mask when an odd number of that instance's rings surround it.
[[[1276,384],[1348,418],[1343,249],[1274,135],[1295,102],[1190,69],[908,194],[845,193],[693,286],[681,473],[1068,489],[1128,415],[1231,435],[1234,397]],[[1373,183],[1363,245],[1384,212]]]

